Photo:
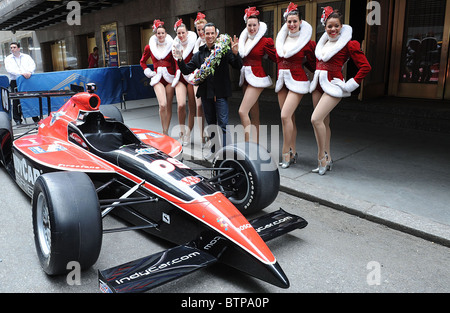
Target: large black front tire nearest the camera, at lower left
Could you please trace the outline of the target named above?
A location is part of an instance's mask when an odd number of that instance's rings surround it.
[[[87,174],[54,172],[39,176],[32,205],[34,241],[45,273],[65,274],[71,261],[84,270],[97,261],[102,218],[94,184]]]

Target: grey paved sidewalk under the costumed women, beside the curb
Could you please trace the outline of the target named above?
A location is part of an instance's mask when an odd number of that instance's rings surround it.
[[[270,129],[281,125],[280,110],[277,102],[267,100],[261,101],[261,124]],[[122,114],[127,125],[161,131],[156,99],[128,101],[126,107]],[[240,124],[238,107],[239,97],[230,99],[231,125]],[[171,127],[178,124],[176,112],[174,103]],[[332,113],[334,167],[319,176],[311,172],[317,167],[311,113],[305,97],[296,111],[299,160],[280,168],[283,191],[450,246],[449,134],[363,124]],[[278,135],[281,142],[281,129]],[[201,159],[197,125],[192,138],[185,158]],[[280,150],[272,151],[277,162]]]

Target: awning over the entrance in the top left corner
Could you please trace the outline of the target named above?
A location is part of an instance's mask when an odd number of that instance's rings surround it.
[[[68,0],[0,0],[0,30],[37,30],[63,22]],[[76,1],[81,14],[120,4],[123,0]]]

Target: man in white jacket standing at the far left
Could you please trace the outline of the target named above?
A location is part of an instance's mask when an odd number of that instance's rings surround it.
[[[20,43],[12,42],[10,49],[11,54],[5,58],[5,69],[9,73],[11,92],[15,92],[17,89],[17,78],[23,76],[29,79],[36,70],[36,63],[28,54],[20,52]],[[22,109],[18,99],[13,100],[13,119],[16,124],[22,124]],[[33,120],[37,122],[39,119],[33,117]]]

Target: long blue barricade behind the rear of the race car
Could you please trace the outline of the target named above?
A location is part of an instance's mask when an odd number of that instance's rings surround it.
[[[69,90],[71,84],[85,87],[88,83],[97,85],[96,94],[102,104],[119,103],[124,100],[138,100],[155,97],[150,80],[145,77],[139,65],[107,67],[61,72],[33,74],[29,79],[17,79],[18,91]],[[69,98],[53,98],[51,110],[57,111]],[[39,115],[38,99],[21,99],[24,117]],[[44,100],[44,114],[48,114]]]

